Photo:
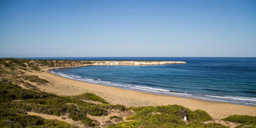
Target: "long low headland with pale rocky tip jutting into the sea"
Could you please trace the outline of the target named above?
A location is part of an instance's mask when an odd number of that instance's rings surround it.
[[[20,62],[21,61],[21,62]],[[181,61],[105,61],[105,60],[31,60],[6,58],[0,61],[5,67],[21,66],[35,71],[44,71],[53,68],[71,68],[91,65],[162,65],[162,64],[186,64]]]

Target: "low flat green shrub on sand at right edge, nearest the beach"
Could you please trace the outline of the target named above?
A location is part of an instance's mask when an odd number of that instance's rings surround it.
[[[251,120],[256,120],[256,116],[232,115],[232,116],[228,116],[226,118],[223,118],[221,120],[243,124],[243,123],[251,121]]]

